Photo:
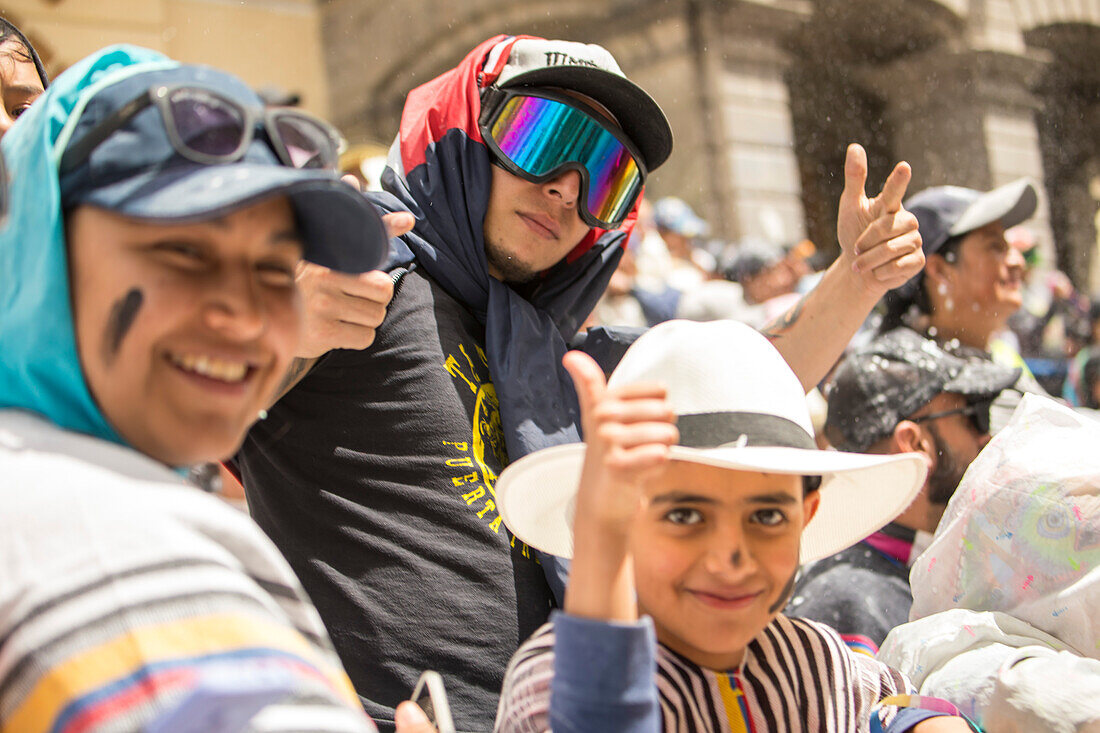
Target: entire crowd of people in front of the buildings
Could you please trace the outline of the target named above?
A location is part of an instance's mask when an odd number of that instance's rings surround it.
[[[598,45],[481,43],[366,193],[221,70],[4,22],[0,86],[0,733],[1100,725],[1096,309],[1031,182],[851,144],[825,262],[650,206]]]

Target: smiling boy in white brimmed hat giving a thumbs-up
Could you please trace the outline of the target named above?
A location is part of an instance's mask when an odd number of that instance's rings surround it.
[[[517,538],[573,557],[564,612],[513,658],[498,731],[969,730],[779,613],[800,559],[905,507],[921,458],[817,450],[798,378],[741,324],[658,326],[608,384],[583,354],[564,363],[586,446],[531,453],[496,486]]]

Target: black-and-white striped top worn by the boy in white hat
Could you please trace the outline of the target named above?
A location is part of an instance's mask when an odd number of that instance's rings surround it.
[[[516,653],[505,677],[496,730],[550,730],[553,625]],[[868,730],[879,700],[911,692],[909,680],[848,649],[829,627],[777,616],[746,648],[733,671],[704,669],[658,644],[657,687],[664,731],[856,733]],[[897,711],[875,712],[890,730]]]

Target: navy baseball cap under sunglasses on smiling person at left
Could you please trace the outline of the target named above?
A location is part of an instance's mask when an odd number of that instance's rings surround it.
[[[77,107],[66,151],[88,130],[160,86],[198,87],[244,109],[263,109],[252,89],[224,72],[193,65],[151,69],[98,89],[82,109]],[[286,196],[307,261],[351,273],[380,266],[388,238],[378,210],[334,172],[284,165],[267,133],[253,132],[237,160],[199,163],[177,152],[161,109],[150,105],[61,172],[62,206],[66,211],[87,205],[136,219],[186,223]]]

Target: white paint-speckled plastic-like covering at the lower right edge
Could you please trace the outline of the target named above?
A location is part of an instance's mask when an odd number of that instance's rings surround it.
[[[1100,425],[1049,398],[970,464],[880,661],[986,731],[1100,730]]]

